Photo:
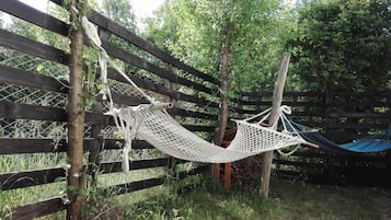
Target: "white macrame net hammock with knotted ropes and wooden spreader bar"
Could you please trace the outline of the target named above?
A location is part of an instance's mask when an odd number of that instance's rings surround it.
[[[110,112],[114,121],[124,136],[125,147],[123,152],[123,170],[129,170],[128,153],[131,149],[131,140],[136,135],[148,141],[160,151],[177,159],[207,163],[227,163],[238,161],[261,152],[276,150],[288,146],[306,143],[296,131],[291,131],[292,126],[283,120],[283,126],[289,126],[289,132],[276,131],[277,121],[274,126],[264,127],[261,124],[269,116],[269,109],[264,111],[253,117],[234,120],[238,126],[237,135],[228,148],[221,148],[212,144],[192,131],[184,128],[174,118],[172,118],[165,108],[172,107],[170,103],[160,103],[147,95],[139,89],[107,56],[105,49],[101,46],[96,27],[90,23],[85,16],[82,18],[82,25],[87,36],[93,45],[101,51],[101,80],[107,84],[107,62],[116,69],[150,104],[138,106],[115,107],[111,91],[105,86],[101,92],[110,102]],[[289,112],[287,107],[280,107],[283,112]],[[254,118],[263,117],[258,123],[250,123]],[[281,117],[279,117],[281,118]],[[285,123],[284,123],[285,121]]]

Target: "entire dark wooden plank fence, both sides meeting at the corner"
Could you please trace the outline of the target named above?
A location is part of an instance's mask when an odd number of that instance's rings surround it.
[[[61,3],[60,0],[51,1],[55,4]],[[65,21],[13,0],[0,1],[0,10],[27,22],[28,25],[46,30],[45,33],[56,36],[59,42],[69,40],[70,27]],[[152,96],[175,102],[177,108],[171,111],[171,114],[177,117],[187,129],[210,136],[216,127],[219,107],[218,99],[215,96],[218,91],[218,80],[181,62],[94,11],[91,11],[89,19],[99,26],[103,47],[107,54],[125,67],[131,80]],[[127,46],[119,47],[116,44],[118,39]],[[88,46],[88,43],[85,45]],[[51,67],[66,67],[67,69],[69,65],[67,49],[58,45],[55,47],[46,44],[45,40],[32,39],[28,33],[24,36],[10,30],[0,30],[0,157],[2,160],[20,160],[21,157],[33,154],[60,155],[58,160],[64,159],[64,152],[67,151],[66,137],[64,134],[56,136],[54,131],[57,128],[64,128],[67,121],[65,111],[67,80],[64,73],[53,76],[50,72],[55,69],[45,71],[45,68],[47,63],[51,63]],[[2,62],[13,57],[23,57],[24,61],[14,61],[18,62],[15,66]],[[28,60],[37,60],[33,63],[36,66],[31,68],[32,62],[26,62]],[[108,78],[112,84],[120,88],[114,90],[113,93],[117,104],[136,105],[146,102],[126,90],[128,88],[126,82],[115,70],[108,70]],[[292,118],[298,123],[320,128],[332,140],[345,142],[367,132],[387,128],[391,120],[390,96],[390,92],[360,94],[288,92],[285,93],[284,104],[292,106]],[[258,113],[266,106],[271,106],[271,97],[272,93],[241,93],[235,101],[234,111],[243,117]],[[38,102],[33,102],[34,100]],[[122,142],[122,139],[113,131],[113,120],[103,115],[103,112],[101,104],[94,104],[85,118],[85,164],[90,166],[89,171],[92,176],[95,173],[104,176],[120,172],[119,161],[104,161],[100,157],[106,151],[120,149],[117,143]],[[35,130],[34,126],[38,126],[39,130]],[[135,154],[147,154],[149,158],[141,157],[140,160],[133,160],[130,165],[133,171],[173,166],[174,160],[170,158],[151,157],[157,153],[142,140],[135,141],[134,150]],[[341,159],[341,157],[318,151],[299,151],[294,157],[275,161],[278,162],[276,173],[281,175],[309,177],[315,174],[324,176],[323,174],[337,173],[337,177],[341,177],[345,175],[342,167],[350,167],[352,164],[360,165],[354,165],[355,172],[361,171],[357,169],[371,167],[384,174],[386,167],[390,167],[389,159],[390,157],[386,155],[355,155]],[[355,161],[352,162],[353,160]],[[176,161],[175,164],[181,163],[186,162]],[[309,171],[311,169],[314,170],[311,171],[312,173]],[[179,180],[206,170],[206,166],[200,165],[191,171],[181,171]],[[20,194],[23,189],[34,188],[41,190],[42,187],[50,184],[61,183],[61,177],[66,175],[66,170],[61,166],[1,170],[0,194],[9,192]],[[329,175],[329,177],[335,177],[335,175]],[[380,176],[380,180],[382,177]],[[162,185],[164,181],[164,175],[158,175],[112,185],[97,183],[97,187],[107,192],[116,192],[116,194],[126,194]],[[3,202],[8,201],[2,199],[0,202],[4,205]],[[11,207],[14,219],[32,219],[64,209],[62,198],[56,194],[38,201]]]

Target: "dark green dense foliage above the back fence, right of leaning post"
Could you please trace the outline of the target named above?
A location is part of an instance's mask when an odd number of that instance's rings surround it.
[[[391,79],[391,1],[314,1],[288,46],[309,90],[379,90]]]

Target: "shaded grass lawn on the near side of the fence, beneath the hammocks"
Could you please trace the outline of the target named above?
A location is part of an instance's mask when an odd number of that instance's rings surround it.
[[[187,195],[165,194],[137,206],[124,207],[125,219],[194,220],[376,220],[380,213],[371,188],[340,188],[274,180],[271,196],[262,199],[255,189],[230,193],[197,187]],[[120,204],[118,204],[120,206]]]

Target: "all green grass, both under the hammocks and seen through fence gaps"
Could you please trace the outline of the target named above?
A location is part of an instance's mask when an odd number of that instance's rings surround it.
[[[110,155],[108,159],[114,159]],[[108,160],[107,159],[107,160]],[[0,173],[18,172],[65,164],[62,154],[1,155]],[[188,164],[179,171],[188,170]],[[131,171],[129,174],[113,173],[99,177],[99,186],[110,186],[164,175],[164,169]],[[197,182],[198,187],[185,195],[176,195],[177,188]],[[0,190],[1,212],[9,208],[59,196],[65,182],[45,184],[13,190]],[[237,188],[226,192],[203,177],[187,177],[181,183],[168,182],[153,187],[114,198],[93,192],[87,211],[100,213],[107,207],[115,208],[124,219],[194,219],[194,220],[376,220],[380,213],[372,199],[381,192],[373,188],[306,185],[303,183],[272,180],[271,196],[262,199],[256,188]],[[64,219],[64,211],[41,219]]]

